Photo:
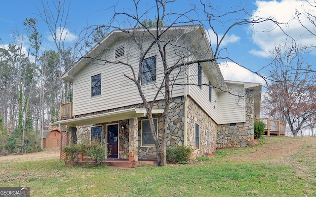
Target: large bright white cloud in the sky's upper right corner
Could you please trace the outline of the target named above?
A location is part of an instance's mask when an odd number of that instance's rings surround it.
[[[309,5],[306,0],[257,0],[255,2],[257,10],[253,12],[254,16],[262,18],[271,18],[280,24],[280,28],[296,40],[296,43],[316,44],[315,35],[309,33],[297,19],[294,19],[295,12],[298,10],[308,10],[312,15],[316,16],[316,9]],[[308,18],[301,17],[301,22],[310,30],[313,30],[313,24],[308,21]],[[272,49],[276,45],[291,43],[292,39],[286,36],[282,30],[276,26],[275,23],[269,21],[264,23],[255,24],[249,27],[249,30],[253,33],[253,42],[259,47],[259,49],[252,49],[250,53],[268,57],[269,49]],[[315,27],[314,27],[315,28]]]

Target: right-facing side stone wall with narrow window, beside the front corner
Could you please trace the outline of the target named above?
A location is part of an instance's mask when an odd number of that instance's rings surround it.
[[[208,157],[216,151],[217,124],[206,112],[191,98],[188,99],[188,135],[187,143],[195,151],[193,159]],[[196,124],[199,125],[199,149],[196,149]],[[209,135],[207,134],[209,132]]]

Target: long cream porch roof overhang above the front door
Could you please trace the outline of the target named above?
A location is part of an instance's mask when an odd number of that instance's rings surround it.
[[[160,114],[163,112],[163,109],[153,109],[153,114]],[[145,108],[131,108],[124,109],[119,111],[113,111],[105,114],[97,114],[92,116],[85,116],[80,118],[60,120],[54,122],[54,125],[67,125],[69,127],[76,127],[80,125],[90,125],[90,124],[99,124],[105,122],[112,122],[118,120],[126,120],[130,118],[140,118],[146,116]]]

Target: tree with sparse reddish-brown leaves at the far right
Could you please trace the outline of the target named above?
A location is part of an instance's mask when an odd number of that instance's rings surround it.
[[[282,114],[294,136],[306,129],[316,114],[315,72],[304,59],[306,47],[277,46],[272,51],[274,63],[267,98],[271,115]]]

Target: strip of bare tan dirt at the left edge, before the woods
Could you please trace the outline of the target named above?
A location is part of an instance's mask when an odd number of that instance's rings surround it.
[[[27,154],[10,154],[7,156],[1,156],[0,162],[25,162],[25,161],[41,161],[57,159],[59,160],[60,148],[48,148],[44,151],[37,153],[27,153]]]

